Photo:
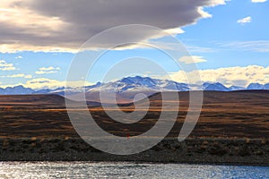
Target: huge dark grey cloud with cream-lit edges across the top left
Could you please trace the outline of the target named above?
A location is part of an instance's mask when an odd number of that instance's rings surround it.
[[[225,0],[4,1],[0,4],[0,51],[76,52],[93,35],[125,24],[147,24],[180,33],[179,27],[211,17],[203,7],[219,4]],[[137,31],[130,30],[126,38],[134,34]],[[154,31],[141,31],[132,39],[155,35]]]

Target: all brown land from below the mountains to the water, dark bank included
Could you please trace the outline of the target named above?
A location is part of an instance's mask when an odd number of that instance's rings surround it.
[[[178,136],[188,107],[188,92],[179,92],[178,95],[178,120],[167,140],[142,154],[129,157],[105,154],[80,140],[68,119],[63,97],[1,96],[0,159],[269,165],[269,91],[205,91],[198,124],[184,142],[173,139]],[[150,101],[149,112],[136,124],[119,124],[110,119],[101,107],[90,107],[90,111],[106,131],[123,137],[134,136],[151,129],[159,118],[161,95],[153,95]],[[175,101],[169,100],[169,103],[170,110],[173,110]],[[139,106],[143,107],[143,101]],[[132,104],[120,107],[126,113],[134,109]],[[117,114],[113,108],[111,110]]]

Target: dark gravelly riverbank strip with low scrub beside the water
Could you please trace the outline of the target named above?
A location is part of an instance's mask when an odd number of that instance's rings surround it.
[[[79,138],[0,139],[1,161],[131,161],[269,166],[268,139],[166,139],[142,153],[117,156]]]

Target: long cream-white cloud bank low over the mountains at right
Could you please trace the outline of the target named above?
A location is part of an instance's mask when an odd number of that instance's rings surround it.
[[[221,82],[225,86],[231,85],[246,87],[251,82],[261,84],[269,83],[269,66],[249,65],[227,68],[199,70],[201,80],[204,82]],[[188,81],[190,84],[197,83],[197,71],[188,72],[194,78]],[[178,82],[187,82],[186,73],[183,71],[172,72],[170,78]]]

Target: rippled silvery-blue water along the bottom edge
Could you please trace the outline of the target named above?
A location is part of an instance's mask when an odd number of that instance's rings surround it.
[[[269,178],[268,166],[0,162],[0,178]]]

